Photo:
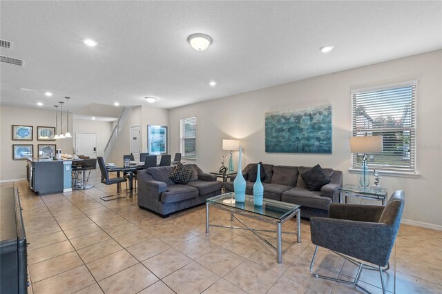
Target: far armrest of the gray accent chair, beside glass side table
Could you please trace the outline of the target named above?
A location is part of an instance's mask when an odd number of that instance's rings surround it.
[[[338,204],[329,206],[329,218],[348,219],[359,222],[378,222],[384,206],[362,204]]]

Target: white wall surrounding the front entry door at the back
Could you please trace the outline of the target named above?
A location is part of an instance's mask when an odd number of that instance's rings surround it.
[[[112,134],[112,121],[93,121],[88,119],[74,119],[73,144],[76,144],[76,133],[97,133],[97,156],[104,155],[104,148]]]

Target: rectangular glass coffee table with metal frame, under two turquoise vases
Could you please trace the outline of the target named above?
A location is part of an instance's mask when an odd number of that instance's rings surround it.
[[[301,242],[301,230],[300,230],[300,205],[291,204],[287,202],[280,202],[271,199],[263,199],[262,206],[254,206],[253,205],[253,196],[246,195],[245,202],[235,202],[229,203],[230,201],[224,202],[224,200],[229,200],[235,198],[235,193],[226,193],[219,196],[211,197],[206,199],[206,233],[209,233],[210,226],[218,226],[221,228],[237,228],[240,230],[248,230],[253,234],[258,236],[263,242],[271,246],[271,248],[276,250],[278,263],[282,261],[282,247],[281,247],[281,234],[295,234],[298,236],[298,243]],[[237,219],[244,227],[240,226],[222,226],[218,224],[210,224],[209,223],[209,207],[214,207],[222,210],[226,210],[231,213],[230,220],[233,222],[233,219]],[[244,224],[241,219],[238,218],[237,215],[243,215],[245,217],[250,217],[252,219],[258,219],[262,222],[267,222],[270,224],[276,224],[275,230],[262,230],[258,228],[251,228]],[[298,231],[296,232],[282,232],[281,224],[287,222],[287,220],[291,219],[296,215],[296,224],[298,226]],[[269,241],[264,239],[264,237],[260,236],[257,232],[273,232],[276,233],[276,247],[273,246]]]

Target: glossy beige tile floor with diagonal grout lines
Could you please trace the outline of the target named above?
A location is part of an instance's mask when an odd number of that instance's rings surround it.
[[[300,244],[293,235],[283,237],[278,264],[276,253],[249,232],[211,228],[206,235],[204,206],[162,219],[138,208],[136,196],[102,201],[115,186],[95,175],[90,184],[95,188],[41,197],[27,182],[1,184],[19,188],[30,293],[365,293],[311,277],[308,222],[302,221]],[[215,219],[229,223],[227,213],[213,209]],[[356,273],[356,266],[325,249],[316,264],[318,273],[344,279]],[[390,264],[389,292],[442,293],[442,232],[403,225]],[[381,293],[374,271],[364,270],[359,283]]]

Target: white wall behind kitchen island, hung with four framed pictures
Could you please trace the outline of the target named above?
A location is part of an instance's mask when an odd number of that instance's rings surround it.
[[[54,126],[55,111],[39,110],[35,108],[17,108],[9,106],[0,107],[0,180],[23,179],[26,178],[26,160],[12,160],[12,144],[32,144],[34,145],[34,157],[38,157],[39,144],[56,144],[61,148],[62,153],[73,153],[73,139],[59,139],[56,141],[37,141],[37,126]],[[66,115],[64,115],[64,129],[66,133]],[[59,115],[60,119],[60,115]],[[13,141],[12,125],[33,126],[32,141]],[[69,118],[69,131],[73,130],[72,115]],[[59,122],[58,133],[61,132]]]

